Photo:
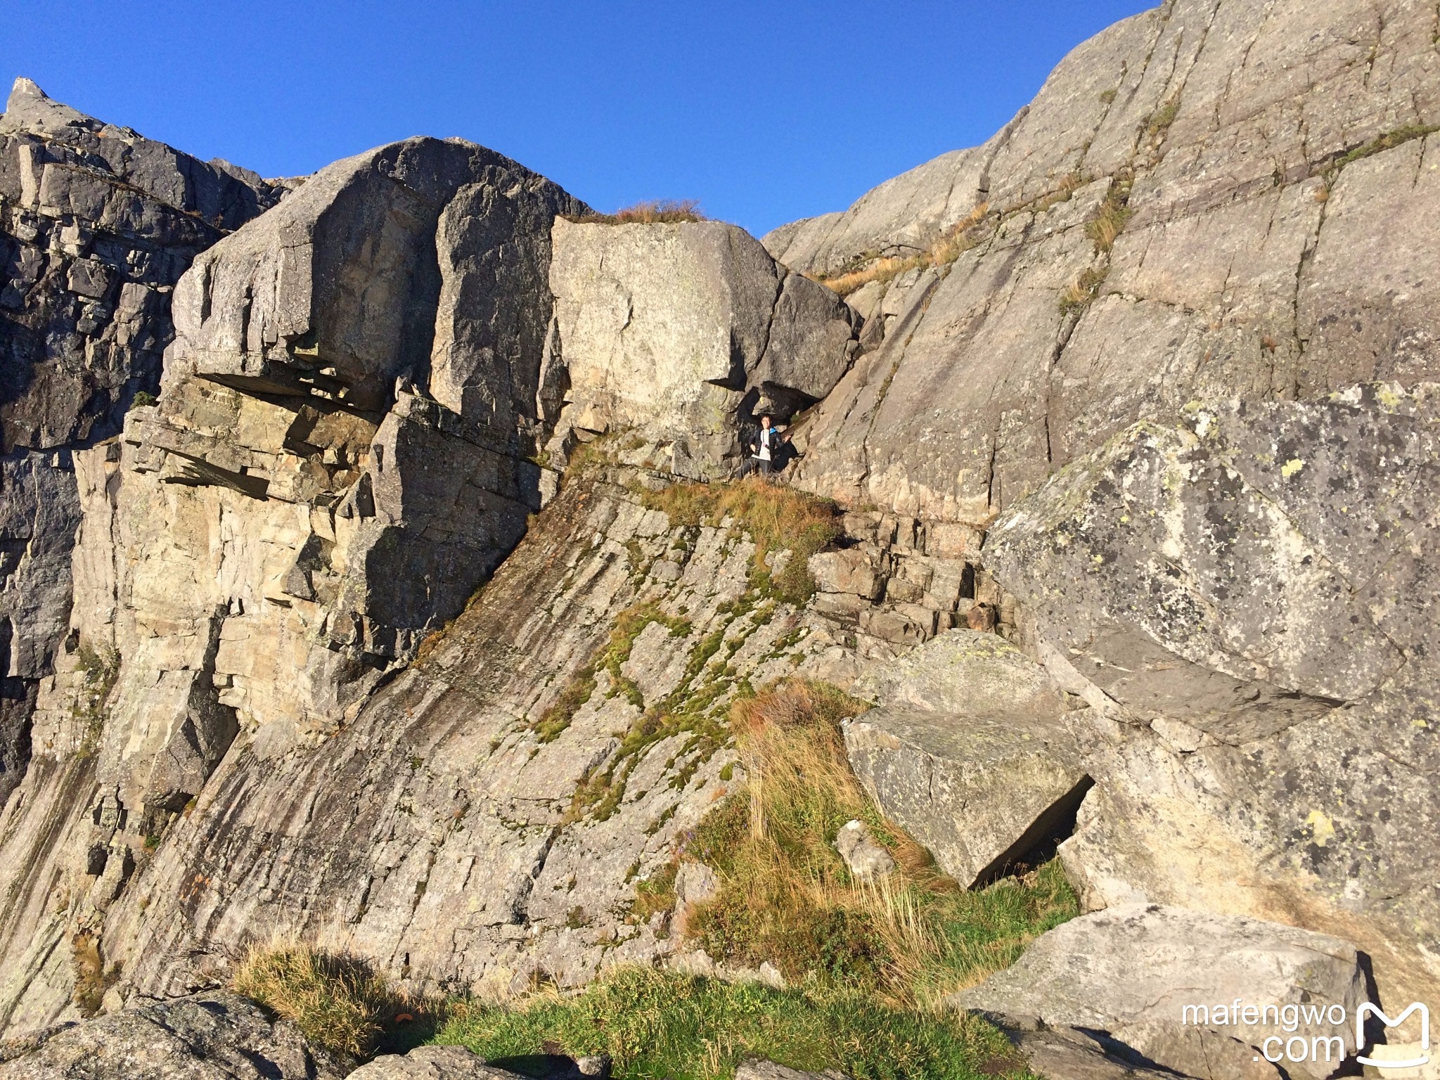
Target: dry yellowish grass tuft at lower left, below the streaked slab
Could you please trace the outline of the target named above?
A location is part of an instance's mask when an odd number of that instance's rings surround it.
[[[294,1021],[314,1045],[360,1060],[379,1048],[387,1025],[418,1012],[364,960],[294,937],[252,946],[230,985]]]

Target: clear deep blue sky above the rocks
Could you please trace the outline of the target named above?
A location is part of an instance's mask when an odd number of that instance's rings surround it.
[[[981,143],[1156,0],[19,0],[0,78],[265,176],[462,135],[762,233]]]

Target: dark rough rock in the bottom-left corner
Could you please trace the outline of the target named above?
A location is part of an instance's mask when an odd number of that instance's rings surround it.
[[[0,1043],[4,1080],[340,1080],[344,1074],[294,1024],[225,992],[147,999],[114,1015]],[[471,1073],[413,1076],[444,1080]]]

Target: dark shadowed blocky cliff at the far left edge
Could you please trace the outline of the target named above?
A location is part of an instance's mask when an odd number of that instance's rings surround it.
[[[282,193],[16,79],[0,115],[0,801],[69,616],[71,454],[158,389],[192,259]]]

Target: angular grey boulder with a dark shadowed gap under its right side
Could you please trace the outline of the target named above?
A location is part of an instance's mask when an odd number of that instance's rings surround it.
[[[1064,694],[994,634],[943,634],[854,690],[881,703],[844,724],[855,776],[960,884],[1053,838],[1090,785]]]

